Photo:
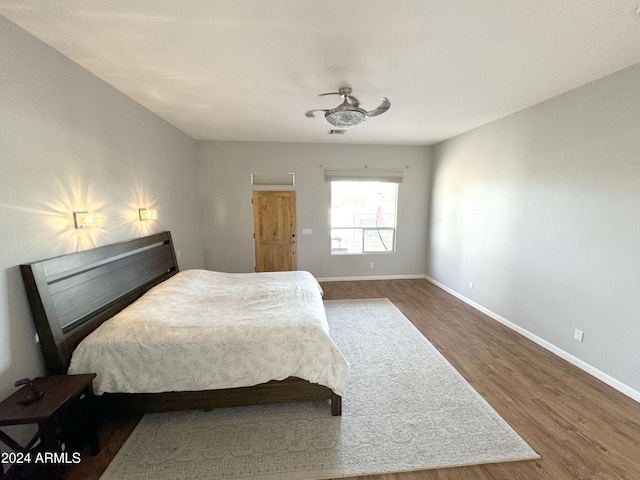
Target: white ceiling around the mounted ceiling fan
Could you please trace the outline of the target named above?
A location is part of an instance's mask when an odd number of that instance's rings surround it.
[[[195,139],[431,145],[640,62],[640,0],[2,0]],[[305,111],[350,86],[344,135]]]

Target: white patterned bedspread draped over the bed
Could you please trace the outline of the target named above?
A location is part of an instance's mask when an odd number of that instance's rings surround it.
[[[329,336],[308,272],[186,270],[106,321],[69,373],[96,372],[95,393],[252,386],[290,376],[344,395],[349,366]]]

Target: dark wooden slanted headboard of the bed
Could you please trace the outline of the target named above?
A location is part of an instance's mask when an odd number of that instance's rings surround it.
[[[20,265],[50,375],[105,320],[178,272],[170,232]]]

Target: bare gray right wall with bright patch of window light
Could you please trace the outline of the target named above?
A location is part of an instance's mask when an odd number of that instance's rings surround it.
[[[640,400],[638,125],[640,65],[435,146],[427,272]]]

